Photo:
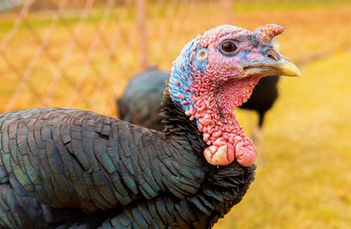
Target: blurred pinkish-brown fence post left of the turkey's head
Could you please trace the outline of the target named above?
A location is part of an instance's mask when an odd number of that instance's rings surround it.
[[[138,20],[138,30],[140,34],[140,65],[143,69],[148,67],[147,63],[147,29],[146,29],[146,6],[145,0],[137,1],[137,20]]]

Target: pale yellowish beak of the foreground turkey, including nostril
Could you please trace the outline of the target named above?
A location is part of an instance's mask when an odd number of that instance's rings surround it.
[[[267,50],[264,60],[244,64],[245,76],[301,76],[301,72],[291,60],[277,53]]]

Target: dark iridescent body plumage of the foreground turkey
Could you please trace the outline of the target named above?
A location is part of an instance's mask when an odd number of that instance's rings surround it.
[[[253,180],[253,167],[226,174],[224,167],[218,169],[209,165],[201,155],[201,149],[206,146],[201,133],[197,128],[189,128],[195,127],[194,123],[171,102],[167,93],[165,99],[166,127],[168,130],[180,128],[182,132],[181,126],[186,125],[187,134],[182,144],[192,141],[189,145],[192,151],[194,148],[199,151],[175,153],[174,150],[183,147],[177,146],[177,141],[170,141],[170,135],[168,141],[177,147],[168,145],[164,154],[158,154],[157,147],[164,147],[160,144],[164,142],[159,138],[161,133],[86,111],[32,109],[15,111],[11,116],[2,114],[0,122],[6,120],[0,130],[0,171],[1,180],[5,182],[0,184],[3,193],[0,211],[4,227],[18,228],[26,223],[36,223],[41,228],[59,225],[64,228],[96,225],[102,228],[188,228],[188,225],[208,228],[213,225],[229,211],[232,202],[241,200]],[[173,118],[167,119],[167,116]],[[79,121],[74,121],[74,117],[79,117]],[[81,127],[81,122],[94,123],[94,120],[98,120],[97,127]],[[99,135],[100,120],[110,123],[110,127],[105,128],[109,132],[104,134],[108,138]],[[12,145],[16,139],[23,139],[22,135],[7,135],[13,139],[4,137],[10,125],[22,123],[27,123],[27,133],[41,130],[37,139],[35,134],[27,135],[35,145],[32,148],[39,149],[40,160],[32,154],[22,156],[21,146]],[[116,141],[114,137],[123,141]],[[127,146],[121,142],[126,142]],[[107,146],[117,149],[113,156],[107,153]],[[18,162],[11,160],[11,155]],[[227,167],[235,170],[237,166],[234,162]],[[154,170],[156,167],[159,169]],[[223,181],[211,181],[208,174]],[[241,179],[243,176],[246,179]],[[6,183],[8,181],[11,186]],[[209,191],[209,187],[216,191]],[[223,202],[219,208],[216,207],[218,202]],[[89,222],[88,218],[95,218],[95,221]]]

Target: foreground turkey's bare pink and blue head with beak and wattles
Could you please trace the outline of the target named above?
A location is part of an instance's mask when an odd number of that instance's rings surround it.
[[[173,62],[171,95],[203,133],[208,145],[204,157],[211,165],[237,160],[250,166],[255,161],[256,148],[233,111],[249,99],[263,76],[300,75],[272,46],[283,30],[274,24],[253,32],[222,25],[190,42]]]

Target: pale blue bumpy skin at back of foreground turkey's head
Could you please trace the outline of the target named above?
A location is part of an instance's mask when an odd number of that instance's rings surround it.
[[[203,72],[208,65],[207,57],[205,60],[197,60],[199,51],[208,52],[207,48],[197,45],[197,40],[194,39],[180,52],[180,55],[173,62],[171,69],[171,77],[169,79],[169,93],[173,102],[180,104],[183,111],[190,110],[190,106],[194,106],[194,102],[190,99],[194,92],[190,91],[190,84],[194,83],[190,76],[191,71]],[[196,49],[194,50],[194,47]],[[192,58],[190,58],[192,56]],[[192,61],[191,61],[192,59]],[[199,124],[199,121],[196,120]]]

